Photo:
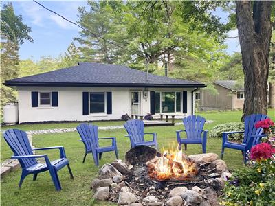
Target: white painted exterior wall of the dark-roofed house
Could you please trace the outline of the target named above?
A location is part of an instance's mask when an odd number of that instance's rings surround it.
[[[18,87],[19,123],[47,121],[94,121],[121,119],[123,114],[131,114],[130,91],[144,91],[144,88],[110,88],[110,87]],[[188,91],[188,111],[192,113],[191,91],[195,88],[148,88],[150,91]],[[32,107],[32,91],[57,91],[58,106]],[[112,113],[83,115],[83,91],[112,92]],[[182,97],[181,97],[182,98]],[[182,100],[181,100],[182,101]],[[147,99],[141,94],[141,113],[150,113],[150,95]],[[195,101],[194,101],[195,102]],[[182,111],[182,108],[181,108]]]

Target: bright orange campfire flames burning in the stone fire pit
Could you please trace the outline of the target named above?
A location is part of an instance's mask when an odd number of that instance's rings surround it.
[[[161,157],[146,163],[151,179],[157,181],[186,180],[197,175],[197,165],[179,150],[165,150]]]

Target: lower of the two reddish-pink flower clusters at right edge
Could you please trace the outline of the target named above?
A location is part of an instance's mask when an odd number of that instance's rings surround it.
[[[272,148],[271,144],[261,143],[251,148],[250,159],[269,159],[275,154],[275,148]]]

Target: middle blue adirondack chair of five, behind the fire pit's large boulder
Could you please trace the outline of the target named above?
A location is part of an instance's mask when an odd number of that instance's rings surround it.
[[[124,124],[131,141],[131,148],[139,145],[155,146],[157,149],[157,133],[144,133],[144,122],[140,119],[132,119]],[[145,141],[144,135],[153,135],[153,141]]]

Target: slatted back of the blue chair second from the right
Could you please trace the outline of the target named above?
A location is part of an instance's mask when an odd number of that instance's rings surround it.
[[[182,119],[184,127],[186,129],[186,136],[188,139],[201,139],[201,133],[203,130],[206,119],[201,116],[190,115]]]

